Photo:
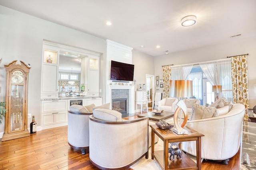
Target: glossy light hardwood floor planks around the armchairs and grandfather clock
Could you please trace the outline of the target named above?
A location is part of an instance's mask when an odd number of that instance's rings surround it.
[[[70,148],[67,131],[63,126],[0,142],[0,170],[99,170],[90,163],[88,150],[82,155]],[[202,170],[239,170],[239,163],[240,150],[228,165],[204,160]]]

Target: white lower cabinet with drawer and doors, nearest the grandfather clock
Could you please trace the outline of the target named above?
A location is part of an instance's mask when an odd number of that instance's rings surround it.
[[[67,125],[67,100],[41,101],[41,127],[49,129]]]

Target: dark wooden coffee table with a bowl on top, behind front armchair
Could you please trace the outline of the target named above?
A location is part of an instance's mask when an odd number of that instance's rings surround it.
[[[174,112],[172,112],[172,111],[164,111],[161,114],[148,112],[148,113],[138,115],[138,117],[148,117],[149,120],[160,121],[160,120],[164,120],[164,119],[168,119],[170,117],[173,117],[173,115],[174,115]]]

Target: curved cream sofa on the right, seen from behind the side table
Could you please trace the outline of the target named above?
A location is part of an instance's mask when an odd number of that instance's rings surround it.
[[[244,111],[244,105],[233,104],[232,109],[224,115],[186,123],[186,127],[204,134],[202,158],[223,160],[223,164],[228,164],[229,158],[234,156],[240,147]],[[196,142],[183,142],[182,150],[196,156]]]

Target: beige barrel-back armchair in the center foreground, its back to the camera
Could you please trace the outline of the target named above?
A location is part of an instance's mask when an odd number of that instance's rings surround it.
[[[148,158],[148,117],[127,121],[118,111],[95,109],[89,129],[90,161],[97,168],[128,168]]]

